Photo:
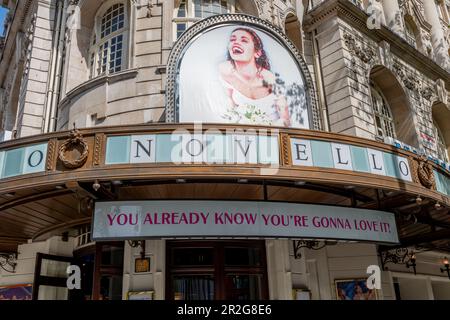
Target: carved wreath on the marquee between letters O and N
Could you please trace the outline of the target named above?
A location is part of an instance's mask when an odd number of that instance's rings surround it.
[[[77,159],[71,159],[67,156],[73,150],[77,150],[80,153]],[[61,160],[66,168],[75,169],[86,163],[88,154],[89,147],[86,140],[77,129],[73,129],[70,132],[70,138],[59,147],[58,159]]]

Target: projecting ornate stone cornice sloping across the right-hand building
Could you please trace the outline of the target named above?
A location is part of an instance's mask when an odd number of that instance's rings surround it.
[[[349,23],[376,43],[386,41],[390,44],[391,52],[394,55],[401,57],[403,61],[413,65],[418,71],[434,81],[444,79],[447,90],[450,90],[450,82],[448,81],[450,74],[446,70],[409,45],[406,40],[386,26],[382,25],[380,29],[369,29],[367,27],[368,15],[348,0],[328,0],[323,2],[305,16],[303,29],[306,32],[312,32],[333,17],[339,17]]]

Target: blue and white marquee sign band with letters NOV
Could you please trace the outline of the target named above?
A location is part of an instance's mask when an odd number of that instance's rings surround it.
[[[108,137],[106,165],[123,163],[279,164],[278,136],[156,134]]]

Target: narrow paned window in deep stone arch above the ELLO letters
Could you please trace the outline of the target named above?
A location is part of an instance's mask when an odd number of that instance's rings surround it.
[[[371,83],[370,89],[377,135],[396,138],[394,117],[386,98],[376,84]]]

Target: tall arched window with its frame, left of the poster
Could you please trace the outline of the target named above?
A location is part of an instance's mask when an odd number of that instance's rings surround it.
[[[123,2],[107,2],[95,17],[89,50],[90,78],[125,69],[127,52],[127,6]]]

